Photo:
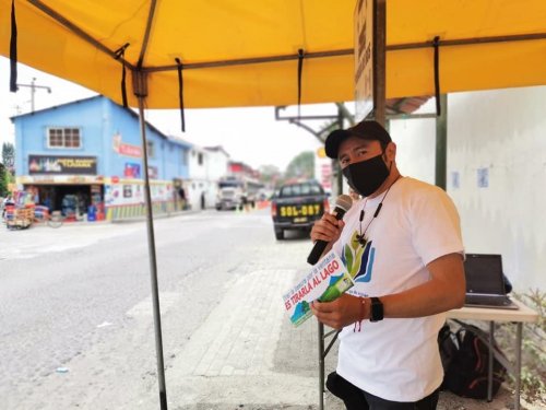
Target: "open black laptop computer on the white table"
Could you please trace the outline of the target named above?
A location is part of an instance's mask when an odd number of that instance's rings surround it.
[[[464,261],[466,277],[465,306],[517,309],[507,296],[500,255],[466,254]]]

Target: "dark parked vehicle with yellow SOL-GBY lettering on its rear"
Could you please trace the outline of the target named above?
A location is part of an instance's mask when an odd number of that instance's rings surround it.
[[[271,201],[275,237],[284,239],[287,230],[311,231],[314,221],[330,211],[328,196],[316,180],[283,185]]]

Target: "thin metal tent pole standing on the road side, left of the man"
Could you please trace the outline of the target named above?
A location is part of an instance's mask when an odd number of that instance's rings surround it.
[[[139,99],[139,122],[142,140],[142,159],[144,162],[144,195],[146,203],[147,249],[150,256],[150,277],[152,280],[152,304],[155,329],[155,350],[157,355],[157,380],[159,383],[161,410],[167,410],[167,389],[165,386],[165,365],[163,362],[162,316],[159,309],[159,291],[157,286],[157,261],[155,257],[154,220],[152,196],[150,194],[150,176],[147,173],[146,121],[144,120],[144,98],[146,96],[146,77],[133,71],[133,89]]]

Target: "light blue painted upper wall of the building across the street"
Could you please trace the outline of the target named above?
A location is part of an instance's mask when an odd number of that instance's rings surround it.
[[[36,112],[14,118],[15,122],[15,171],[16,175],[28,175],[28,155],[96,156],[97,175],[123,178],[126,167],[140,166],[144,178],[142,160],[136,155],[120,154],[115,150],[115,139],[120,143],[141,148],[140,125],[136,117],[104,97],[93,97],[59,107]],[[50,149],[47,147],[48,129],[51,127],[79,128],[82,147],[76,149]],[[157,169],[156,179],[188,178],[188,164],[182,162],[182,151],[190,144],[166,140],[156,130],[146,127],[146,139],[154,142],[155,155],[149,159],[150,166]]]

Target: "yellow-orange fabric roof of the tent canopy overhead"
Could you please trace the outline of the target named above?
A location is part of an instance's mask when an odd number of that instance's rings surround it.
[[[147,73],[149,108],[178,106],[176,58],[186,107],[289,105],[304,49],[301,102],[352,101],[356,2],[16,0],[19,60],[121,103],[114,56],[129,44],[128,67]],[[10,9],[0,0],[3,56]],[[442,93],[546,84],[546,1],[389,0],[388,98],[435,93],[435,36]],[[131,90],[129,72],[135,106]]]

